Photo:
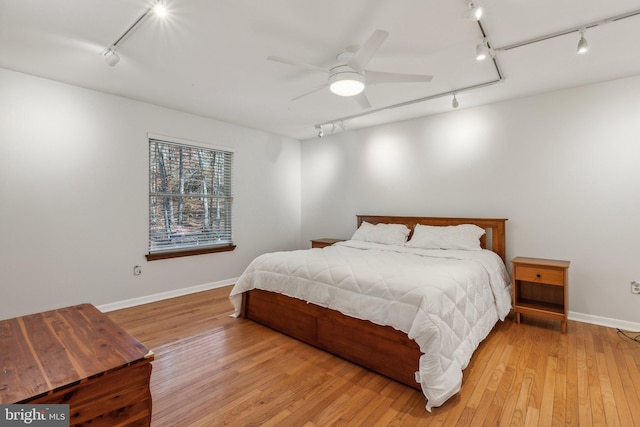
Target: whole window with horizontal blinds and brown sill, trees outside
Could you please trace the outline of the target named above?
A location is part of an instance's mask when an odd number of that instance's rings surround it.
[[[233,250],[233,153],[149,138],[148,260]]]

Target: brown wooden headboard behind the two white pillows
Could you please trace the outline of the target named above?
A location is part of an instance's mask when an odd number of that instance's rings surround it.
[[[490,247],[493,252],[497,253],[502,261],[506,262],[506,218],[444,218],[444,217],[422,217],[422,216],[378,216],[378,215],[357,215],[358,227],[362,221],[370,224],[405,224],[413,233],[416,224],[422,225],[460,225],[475,224],[484,228],[486,234],[480,238],[480,246],[487,248],[487,236],[490,237]]]

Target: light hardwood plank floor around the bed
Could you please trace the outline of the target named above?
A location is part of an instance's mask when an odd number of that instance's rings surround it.
[[[108,313],[155,352],[152,426],[640,426],[640,344],[614,329],[508,318],[428,413],[417,390],[229,317],[229,291]]]

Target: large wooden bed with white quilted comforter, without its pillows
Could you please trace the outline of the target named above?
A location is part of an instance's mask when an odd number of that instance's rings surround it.
[[[354,240],[365,225],[401,224],[406,244]],[[231,291],[235,315],[422,390],[430,411],[460,390],[473,351],[511,309],[505,224],[358,215],[348,241],[256,258]],[[473,226],[477,250],[408,247],[418,231]]]

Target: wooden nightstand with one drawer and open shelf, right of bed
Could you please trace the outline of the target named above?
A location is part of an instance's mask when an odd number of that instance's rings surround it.
[[[569,261],[516,257],[511,260],[513,309],[516,322],[521,314],[560,320],[567,332],[567,287]]]

